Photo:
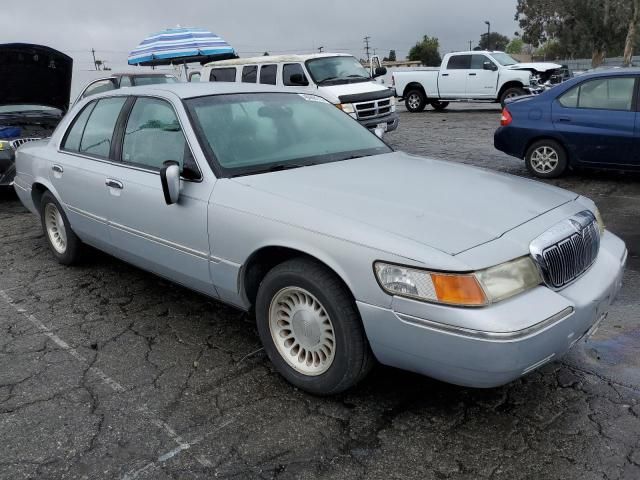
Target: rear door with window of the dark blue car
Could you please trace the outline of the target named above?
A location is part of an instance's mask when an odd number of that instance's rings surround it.
[[[632,76],[586,80],[559,97],[552,120],[580,163],[615,167],[638,162],[637,80]]]

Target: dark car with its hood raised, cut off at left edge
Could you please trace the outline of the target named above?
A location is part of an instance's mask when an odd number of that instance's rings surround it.
[[[73,60],[42,45],[0,45],[0,188],[15,176],[15,150],[51,136],[69,108]]]

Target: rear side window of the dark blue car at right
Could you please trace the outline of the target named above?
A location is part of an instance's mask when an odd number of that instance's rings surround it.
[[[572,88],[559,102],[567,108],[630,111],[635,84],[631,77],[596,78]]]

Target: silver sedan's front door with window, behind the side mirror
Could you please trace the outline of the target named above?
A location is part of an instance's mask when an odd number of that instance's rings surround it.
[[[121,145],[121,164],[106,179],[111,182],[109,226],[117,254],[216,296],[207,228],[213,182],[204,181],[174,107],[158,98],[137,98]],[[175,205],[166,204],[160,182],[160,169],[168,160],[178,162],[182,172]]]

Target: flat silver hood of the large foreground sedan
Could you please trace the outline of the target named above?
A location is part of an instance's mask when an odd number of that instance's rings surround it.
[[[540,182],[401,152],[234,180],[348,219],[351,237],[365,224],[451,255],[578,197]],[[367,238],[351,239],[369,244]]]

